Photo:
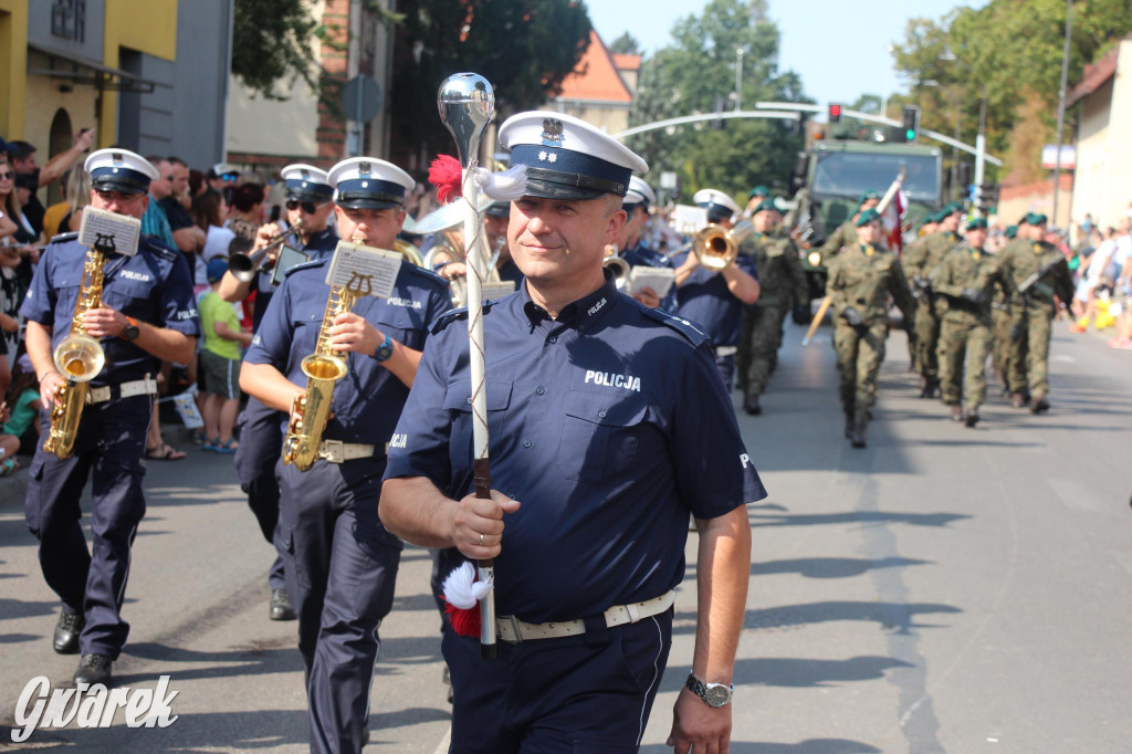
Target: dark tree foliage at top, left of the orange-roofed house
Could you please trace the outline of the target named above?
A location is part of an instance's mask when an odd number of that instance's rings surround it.
[[[436,115],[440,83],[460,71],[487,78],[496,112],[535,108],[560,91],[590,43],[585,3],[576,0],[403,0],[412,58],[396,63],[391,104],[405,143],[453,153]]]

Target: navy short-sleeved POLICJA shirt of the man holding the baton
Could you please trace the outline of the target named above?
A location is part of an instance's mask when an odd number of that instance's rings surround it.
[[[386,479],[472,491],[468,323],[432,327]],[[598,615],[684,577],[688,513],[765,497],[707,337],[612,277],[550,319],[524,285],[484,307],[491,487],[522,503],[495,560],[501,615]]]

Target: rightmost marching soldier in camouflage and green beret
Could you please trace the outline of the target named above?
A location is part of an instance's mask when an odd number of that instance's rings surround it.
[[[1049,337],[1058,309],[1073,300],[1073,279],[1065,255],[1045,240],[1047,219],[1028,213],[1018,237],[998,252],[1002,276],[1010,292],[1011,341],[1007,378],[1015,408],[1031,413],[1049,409]],[[1027,279],[1037,282],[1023,289]]]

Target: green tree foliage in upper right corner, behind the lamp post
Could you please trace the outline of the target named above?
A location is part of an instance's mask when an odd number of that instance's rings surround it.
[[[992,0],[977,10],[959,8],[938,22],[910,20],[894,54],[897,68],[911,79],[912,98],[924,109],[924,127],[950,135],[958,119],[960,139],[974,143],[985,95],[992,153],[1007,154],[1017,128],[1031,132],[1038,127],[1045,131],[1044,140],[1052,143],[1066,11],[1066,0]],[[1073,3],[1070,87],[1087,63],[1132,31],[1130,18],[1129,0]],[[954,60],[946,60],[945,51]],[[1026,106],[1035,100],[1039,106]],[[1030,146],[1024,154],[1010,155],[1006,169],[1032,172],[1037,158]]]

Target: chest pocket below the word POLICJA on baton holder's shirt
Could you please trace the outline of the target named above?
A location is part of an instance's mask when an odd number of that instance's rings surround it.
[[[636,459],[646,411],[640,393],[567,393],[557,459],[563,477],[597,482],[623,473]]]

